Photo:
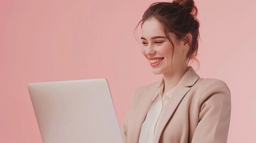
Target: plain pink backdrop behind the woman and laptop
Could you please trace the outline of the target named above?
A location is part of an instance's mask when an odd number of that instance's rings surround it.
[[[133,32],[153,0],[1,0],[0,142],[42,142],[29,82],[105,77],[119,123],[136,88],[159,80]],[[229,142],[256,142],[256,1],[196,0],[197,69],[232,92]],[[140,32],[138,32],[140,36]]]

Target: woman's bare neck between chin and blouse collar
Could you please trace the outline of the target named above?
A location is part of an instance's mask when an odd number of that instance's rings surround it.
[[[178,82],[180,82],[180,79],[184,76],[187,69],[188,69],[188,67],[184,67],[184,68],[175,70],[172,73],[163,74],[164,85],[165,85],[163,95],[165,95],[166,92],[171,91],[171,89],[174,88],[178,84]]]

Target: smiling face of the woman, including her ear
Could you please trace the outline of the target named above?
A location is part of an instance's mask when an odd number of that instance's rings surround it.
[[[187,50],[184,48],[184,42],[178,41],[174,33],[169,33],[169,37],[172,39],[175,50],[166,38],[164,29],[158,20],[150,18],[144,21],[141,52],[149,61],[154,74],[172,74],[187,66]]]

